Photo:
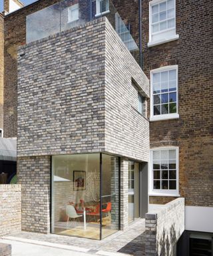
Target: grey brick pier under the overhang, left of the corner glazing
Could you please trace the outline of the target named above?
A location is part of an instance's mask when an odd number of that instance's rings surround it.
[[[51,157],[19,157],[21,183],[21,229],[49,233],[51,203]]]

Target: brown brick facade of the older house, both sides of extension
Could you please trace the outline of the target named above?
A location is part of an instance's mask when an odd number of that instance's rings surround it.
[[[59,0],[51,1],[51,5],[59,2]],[[150,205],[163,205],[181,196],[185,198],[186,207],[203,207],[201,209],[204,213],[206,211],[212,212],[213,195],[210,192],[213,189],[211,111],[213,45],[210,27],[212,1],[187,0],[183,3],[183,1],[176,0],[175,27],[176,35],[179,38],[148,47],[150,41],[150,2],[142,1],[143,71],[150,79],[150,71],[154,69],[174,65],[178,67],[179,115],[176,119],[150,121],[150,149],[178,148],[177,182],[179,189],[177,195],[166,196],[164,193],[157,195],[157,193],[154,194],[150,191],[149,203]],[[155,2],[158,3],[158,1]],[[134,40],[138,43],[138,1],[114,0],[113,3],[130,28]],[[17,136],[17,47],[25,45],[25,18],[47,6],[49,6],[49,1],[40,0],[4,17],[3,126],[5,137]],[[152,106],[148,101],[148,118],[151,108]],[[152,181],[150,181],[151,183]],[[187,209],[191,213],[192,208]],[[194,230],[196,231],[196,228]],[[205,230],[197,229],[197,231]],[[206,231],[210,232],[210,230]]]

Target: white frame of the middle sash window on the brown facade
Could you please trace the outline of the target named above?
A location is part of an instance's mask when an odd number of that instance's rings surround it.
[[[176,113],[169,113],[163,115],[154,115],[153,111],[153,74],[162,72],[162,71],[170,71],[176,69]],[[152,69],[150,71],[150,121],[161,121],[168,119],[177,119],[179,118],[178,114],[178,65],[170,65],[160,67],[158,69]]]

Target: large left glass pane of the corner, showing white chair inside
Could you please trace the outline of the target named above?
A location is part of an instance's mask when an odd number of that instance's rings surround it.
[[[100,239],[100,154],[52,159],[53,233]]]

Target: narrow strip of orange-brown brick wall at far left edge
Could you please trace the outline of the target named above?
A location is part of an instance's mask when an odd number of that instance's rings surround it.
[[[0,129],[3,129],[4,18],[0,13]]]

